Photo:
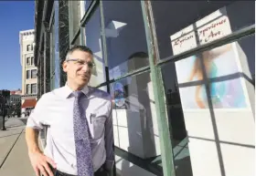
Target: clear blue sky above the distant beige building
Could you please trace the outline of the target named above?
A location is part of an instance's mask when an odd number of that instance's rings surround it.
[[[0,1],[0,89],[21,88],[19,31],[34,28],[34,1]]]

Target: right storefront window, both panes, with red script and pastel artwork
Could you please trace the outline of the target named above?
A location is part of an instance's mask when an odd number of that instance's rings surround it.
[[[151,3],[161,59],[255,23],[255,2]],[[176,176],[253,174],[254,42],[247,36],[162,66]]]

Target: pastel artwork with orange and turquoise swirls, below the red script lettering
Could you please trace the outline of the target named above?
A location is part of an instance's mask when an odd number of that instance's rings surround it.
[[[237,57],[238,52],[240,57]],[[223,79],[238,75],[240,64],[247,62],[247,58],[244,56],[245,54],[238,43],[233,43],[205,51],[200,55],[188,57],[176,62],[178,82],[203,80],[203,70],[205,69],[207,77],[211,78],[211,80],[222,78],[221,81],[210,81],[210,84],[208,84],[213,108],[247,108],[248,105],[239,76],[228,80]],[[203,62],[203,65],[201,62]],[[249,71],[248,64],[243,67],[247,67],[246,72]],[[251,73],[249,72],[248,74],[250,74],[249,78],[251,78]],[[183,101],[183,108],[208,109],[205,84],[201,83],[194,87],[181,88],[180,91],[186,97],[186,100],[184,99]]]

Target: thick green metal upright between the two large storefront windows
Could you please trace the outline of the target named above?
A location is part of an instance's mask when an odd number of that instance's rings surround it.
[[[155,97],[155,111],[157,114],[157,126],[160,138],[160,149],[164,176],[175,176],[176,170],[174,165],[171,134],[169,129],[168,114],[165,102],[165,88],[163,84],[161,67],[155,66],[155,58],[157,43],[155,42],[154,26],[152,21],[153,14],[150,1],[141,1],[144,29],[146,34],[146,42],[149,52],[149,63],[151,71],[151,80],[153,84],[153,92]]]

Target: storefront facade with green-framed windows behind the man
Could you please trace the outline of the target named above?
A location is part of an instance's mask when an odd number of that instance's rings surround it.
[[[238,13],[240,12],[240,13]],[[38,98],[86,45],[112,95],[116,173],[255,174],[255,2],[36,1]]]

